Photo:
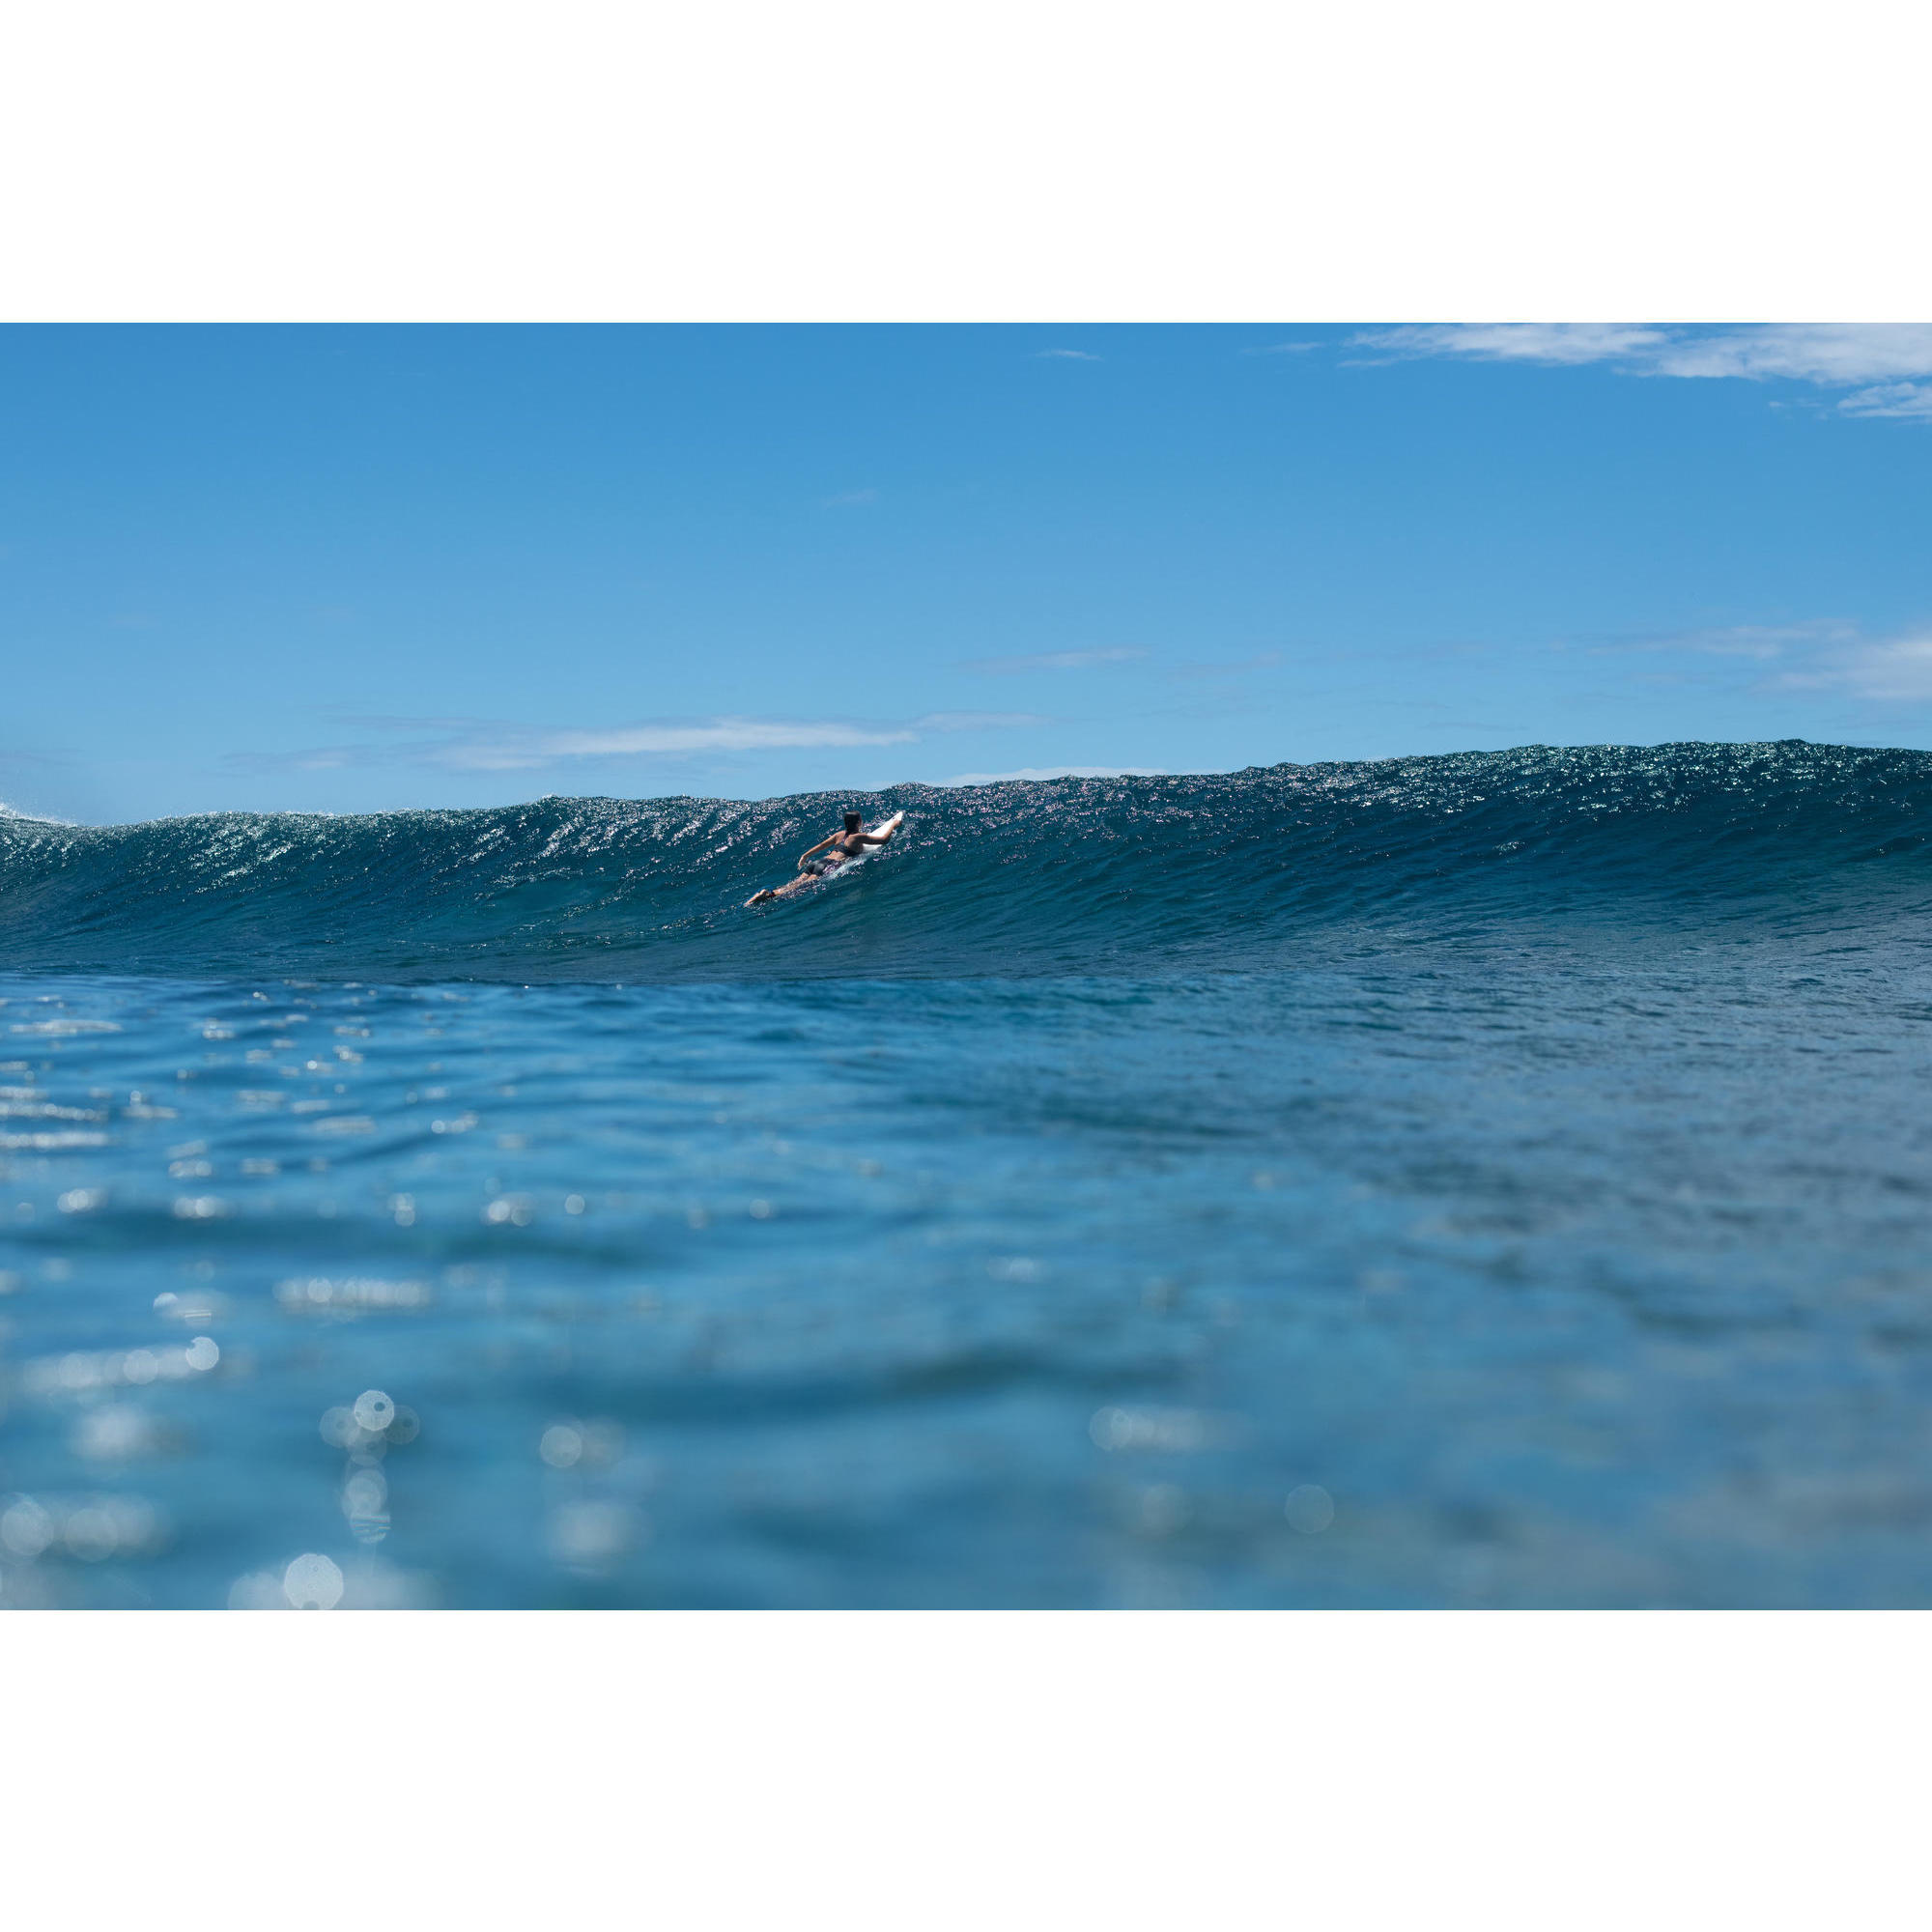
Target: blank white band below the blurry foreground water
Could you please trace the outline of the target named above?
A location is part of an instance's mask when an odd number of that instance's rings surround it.
[[[1922,1889],[1918,1615],[4,1634],[21,1924],[1702,1932]]]

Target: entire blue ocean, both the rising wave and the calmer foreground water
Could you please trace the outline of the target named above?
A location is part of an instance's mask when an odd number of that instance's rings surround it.
[[[0,1602],[1932,1602],[1932,757],[0,819]]]

